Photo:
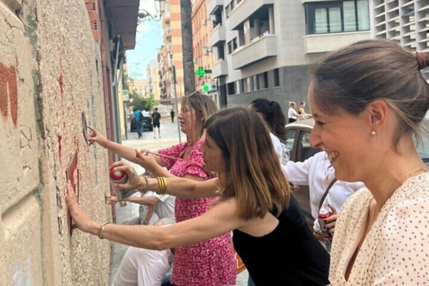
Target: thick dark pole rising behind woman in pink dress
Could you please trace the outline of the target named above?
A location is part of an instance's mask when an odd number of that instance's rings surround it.
[[[183,84],[185,95],[188,96],[195,91],[191,0],[180,0],[180,18],[182,22]]]

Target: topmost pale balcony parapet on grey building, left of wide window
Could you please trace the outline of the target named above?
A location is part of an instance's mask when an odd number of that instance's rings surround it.
[[[284,1],[284,0],[283,0]],[[273,6],[274,0],[241,0],[229,14],[231,30],[236,30],[243,22],[264,6]]]

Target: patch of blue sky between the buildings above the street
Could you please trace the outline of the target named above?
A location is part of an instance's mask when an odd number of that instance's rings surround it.
[[[156,15],[154,0],[140,0],[140,9]],[[150,19],[150,17],[146,18]],[[146,20],[137,27],[136,47],[126,52],[128,75],[133,78],[146,78],[146,67],[156,60],[156,49],[162,45],[161,21]]]

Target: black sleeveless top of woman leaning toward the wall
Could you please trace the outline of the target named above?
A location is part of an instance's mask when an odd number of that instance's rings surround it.
[[[234,248],[256,285],[327,285],[329,254],[307,226],[293,196],[269,234],[233,231]]]

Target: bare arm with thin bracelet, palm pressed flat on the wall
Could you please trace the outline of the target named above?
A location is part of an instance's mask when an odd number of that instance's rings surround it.
[[[77,203],[70,181],[65,199],[76,226],[84,232],[99,235],[102,223],[85,215]],[[202,216],[167,227],[108,224],[100,236],[129,246],[154,250],[193,244],[245,226],[248,221],[237,217],[236,203],[233,198],[221,201]]]

